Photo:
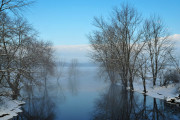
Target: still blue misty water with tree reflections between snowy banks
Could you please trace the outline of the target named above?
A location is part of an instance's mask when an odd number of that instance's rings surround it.
[[[66,68],[46,89],[27,92],[15,120],[180,120],[180,108],[163,100],[105,83],[96,67]]]

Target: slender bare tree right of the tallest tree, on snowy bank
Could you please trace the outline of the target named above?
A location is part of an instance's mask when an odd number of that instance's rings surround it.
[[[160,71],[165,69],[171,61],[173,42],[169,39],[165,25],[156,16],[145,21],[144,37],[147,42],[146,51],[149,55],[154,86]]]

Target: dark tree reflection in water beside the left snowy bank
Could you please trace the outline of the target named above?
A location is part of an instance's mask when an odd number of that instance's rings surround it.
[[[33,89],[28,89],[26,104],[22,107],[22,113],[13,120],[53,120],[55,118],[55,103],[48,95],[47,87],[37,94],[33,94]]]

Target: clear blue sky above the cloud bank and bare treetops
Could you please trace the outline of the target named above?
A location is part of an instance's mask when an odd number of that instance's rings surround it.
[[[108,17],[113,7],[127,2],[145,17],[160,15],[171,34],[180,34],[180,0],[36,0],[25,16],[54,45],[88,44],[93,17]]]

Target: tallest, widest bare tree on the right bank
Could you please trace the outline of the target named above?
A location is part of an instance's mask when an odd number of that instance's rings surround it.
[[[122,5],[120,10],[114,10],[110,23],[96,18],[95,26],[100,30],[89,37],[92,58],[118,73],[123,85],[127,87],[129,82],[131,89],[137,56],[144,46],[140,25],[141,15],[133,7]]]

